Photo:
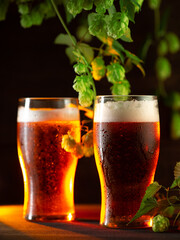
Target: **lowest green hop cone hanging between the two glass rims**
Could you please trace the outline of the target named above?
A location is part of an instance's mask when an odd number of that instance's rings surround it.
[[[87,88],[85,91],[79,92],[79,103],[83,107],[89,107],[92,105],[93,100],[94,100],[94,92],[92,89]]]

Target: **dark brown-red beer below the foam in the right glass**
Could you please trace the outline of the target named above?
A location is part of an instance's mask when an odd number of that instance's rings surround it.
[[[159,156],[159,122],[95,122],[101,181],[101,224],[128,223],[153,181]]]

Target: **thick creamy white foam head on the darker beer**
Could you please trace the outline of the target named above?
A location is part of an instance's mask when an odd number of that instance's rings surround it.
[[[156,100],[97,103],[94,122],[158,122]]]

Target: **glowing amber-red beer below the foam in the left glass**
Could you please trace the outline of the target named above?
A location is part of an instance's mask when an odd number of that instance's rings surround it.
[[[68,131],[80,141],[79,121],[18,123],[18,153],[28,220],[71,220],[77,158],[61,148]]]

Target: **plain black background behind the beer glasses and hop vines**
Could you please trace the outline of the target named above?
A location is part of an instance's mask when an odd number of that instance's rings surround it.
[[[127,44],[138,54],[148,32],[153,30],[153,12],[147,8],[147,0],[142,12],[132,24],[134,43]],[[171,4],[172,14],[169,30],[180,37],[180,1],[163,0],[162,10]],[[76,20],[70,30],[74,33]],[[23,203],[23,179],[16,149],[16,113],[20,97],[76,97],[72,89],[75,74],[64,53],[64,46],[53,44],[55,37],[64,32],[56,18],[45,21],[40,27],[23,29],[19,24],[19,14],[11,6],[6,21],[0,22],[0,204]],[[154,94],[156,80],[153,70],[155,52],[148,54],[145,65],[146,77],[134,69],[128,79],[132,94]],[[179,90],[180,53],[169,56],[173,74],[167,81],[168,90]],[[98,94],[110,94],[106,79],[97,84]],[[170,109],[160,101],[161,150],[156,172],[156,180],[168,185],[173,180],[173,168],[180,161],[180,141],[169,137]],[[100,185],[94,158],[79,160],[75,201],[78,203],[100,202]]]

